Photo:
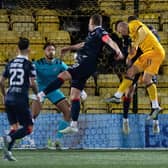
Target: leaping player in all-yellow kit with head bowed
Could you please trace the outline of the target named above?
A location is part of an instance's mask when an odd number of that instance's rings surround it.
[[[142,55],[130,66],[117,92],[113,97],[106,99],[106,102],[120,103],[121,97],[132,84],[135,75],[144,72],[143,82],[146,85],[152,104],[152,113],[150,113],[148,119],[154,119],[161,111],[161,108],[158,103],[156,85],[152,82],[152,76],[158,73],[159,67],[165,58],[165,51],[155,35],[138,19],[130,19],[128,23],[121,22],[118,27],[122,35],[129,35],[132,40],[127,62],[136,54],[138,47],[142,50]]]

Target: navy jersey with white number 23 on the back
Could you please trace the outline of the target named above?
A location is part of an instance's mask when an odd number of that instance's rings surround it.
[[[9,88],[7,99],[15,101],[19,98],[28,98],[30,87],[30,77],[36,77],[35,68],[26,56],[17,56],[11,60],[5,67],[3,77],[8,78]]]

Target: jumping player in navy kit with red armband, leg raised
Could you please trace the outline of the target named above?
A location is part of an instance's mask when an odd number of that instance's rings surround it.
[[[55,81],[38,94],[40,99],[49,92],[59,88],[65,80],[71,80],[71,116],[70,126],[62,130],[62,133],[78,132],[77,121],[80,112],[80,93],[87,79],[96,71],[97,59],[102,46],[107,43],[116,52],[116,59],[123,58],[118,45],[109,37],[102,28],[101,15],[95,14],[89,20],[89,33],[85,42],[78,43],[62,49],[62,54],[67,51],[77,50],[77,63],[60,73]]]

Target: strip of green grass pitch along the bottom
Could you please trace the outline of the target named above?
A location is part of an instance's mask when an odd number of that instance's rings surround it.
[[[168,151],[156,150],[14,150],[17,162],[0,168],[167,168]]]

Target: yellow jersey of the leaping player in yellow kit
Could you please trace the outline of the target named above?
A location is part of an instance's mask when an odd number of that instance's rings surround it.
[[[144,41],[141,42],[138,46],[142,50],[142,52],[144,53],[146,51],[153,50],[153,49],[164,52],[164,49],[161,46],[161,44],[158,42],[158,39],[156,38],[156,36],[149,30],[149,28],[146,25],[144,25],[142,22],[138,20],[133,20],[129,23],[129,35],[132,41],[135,41],[137,39],[137,36],[138,36],[137,32],[138,32],[138,29],[140,29],[141,27],[143,27],[143,29],[147,33]]]

